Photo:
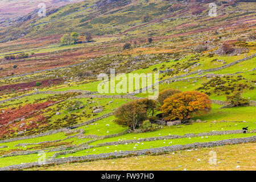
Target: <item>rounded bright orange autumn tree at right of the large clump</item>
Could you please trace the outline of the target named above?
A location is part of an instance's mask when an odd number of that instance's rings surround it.
[[[209,97],[197,91],[176,93],[166,98],[160,107],[160,111],[168,121],[186,120],[210,109]]]

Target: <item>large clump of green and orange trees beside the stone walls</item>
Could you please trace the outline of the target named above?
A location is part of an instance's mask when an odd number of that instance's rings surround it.
[[[164,118],[166,121],[176,119],[187,121],[210,109],[210,99],[204,93],[168,89],[159,93],[158,100],[142,99],[128,102],[115,110],[114,115],[118,125],[128,126],[130,130],[139,128],[155,130],[157,127],[152,125],[148,119]]]

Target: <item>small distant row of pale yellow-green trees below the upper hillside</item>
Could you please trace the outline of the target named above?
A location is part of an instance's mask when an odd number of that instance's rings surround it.
[[[90,42],[93,40],[92,34],[90,32],[84,32],[81,35],[77,32],[72,32],[71,34],[64,34],[61,39],[61,45],[70,45],[70,44],[78,44],[84,42]]]

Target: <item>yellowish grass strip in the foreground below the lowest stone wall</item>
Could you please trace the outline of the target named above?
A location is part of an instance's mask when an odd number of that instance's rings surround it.
[[[216,164],[209,164],[209,153],[216,152]],[[243,143],[235,145],[200,148],[192,151],[176,151],[155,156],[134,156],[123,159],[97,160],[94,162],[60,164],[52,167],[38,167],[28,170],[46,171],[141,171],[141,170],[164,170],[164,171],[187,171],[193,170],[228,170],[243,171],[254,170],[255,143]],[[182,159],[182,160],[181,160]],[[200,159],[200,160],[198,160]],[[239,167],[237,167],[239,166]]]

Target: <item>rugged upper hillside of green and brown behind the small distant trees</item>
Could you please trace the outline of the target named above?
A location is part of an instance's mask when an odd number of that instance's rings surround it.
[[[37,16],[37,12],[34,11],[15,20],[9,23],[9,26],[0,29],[0,41],[57,36],[72,31],[88,31],[94,36],[160,36],[175,34],[180,32],[180,28],[189,31],[221,26],[237,19],[255,21],[255,2],[216,3],[218,16],[210,17],[208,2],[83,1],[57,10],[48,10],[47,16],[43,18]],[[143,16],[146,15],[149,18],[143,22]],[[222,19],[225,19],[225,22],[221,22]],[[6,26],[6,22],[2,23],[3,25]]]

